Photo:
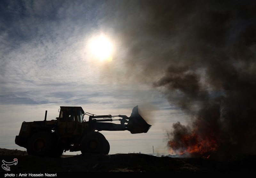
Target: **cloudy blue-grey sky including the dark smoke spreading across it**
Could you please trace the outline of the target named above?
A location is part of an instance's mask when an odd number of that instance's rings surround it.
[[[1,1],[0,147],[25,150],[15,135],[45,110],[48,120],[64,105],[130,116],[138,105],[152,127],[102,131],[109,154],[148,154],[153,146],[184,152],[194,143],[181,145],[179,135],[196,131],[198,145],[209,130],[218,143],[211,148],[252,153],[255,7],[238,0]],[[91,49],[100,36],[111,44],[107,57]]]

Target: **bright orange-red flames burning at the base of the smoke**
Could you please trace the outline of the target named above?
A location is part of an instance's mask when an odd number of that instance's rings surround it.
[[[217,140],[211,134],[199,135],[194,131],[191,134],[179,135],[179,137],[180,139],[168,141],[170,154],[206,155],[205,157],[209,158],[209,153],[218,149]]]

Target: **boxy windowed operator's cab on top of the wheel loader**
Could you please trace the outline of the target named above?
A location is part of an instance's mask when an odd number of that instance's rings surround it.
[[[60,106],[60,115],[57,118],[57,130],[61,136],[70,137],[82,134],[84,110],[82,107]]]

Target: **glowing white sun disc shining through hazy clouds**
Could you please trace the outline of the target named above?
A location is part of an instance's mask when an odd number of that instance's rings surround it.
[[[92,55],[100,61],[112,61],[113,45],[105,35],[93,37],[90,42]]]

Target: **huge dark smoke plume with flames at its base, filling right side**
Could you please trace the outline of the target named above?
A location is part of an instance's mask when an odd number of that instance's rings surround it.
[[[116,12],[127,76],[191,114],[170,128],[170,151],[255,154],[256,1],[132,2]]]

